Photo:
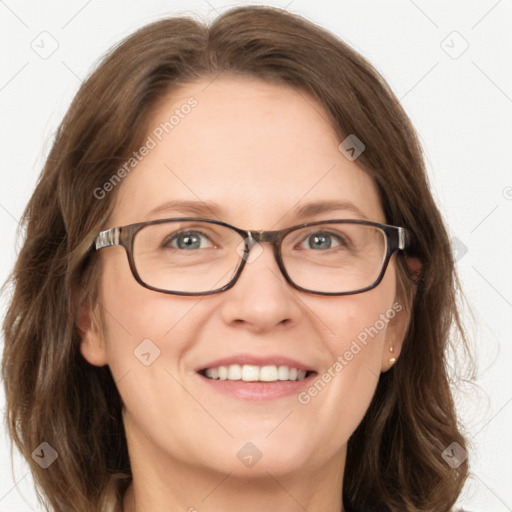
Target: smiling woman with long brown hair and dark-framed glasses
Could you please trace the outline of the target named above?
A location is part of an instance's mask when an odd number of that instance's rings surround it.
[[[144,27],[24,219],[3,376],[52,510],[451,510],[450,244],[410,121],[333,35]]]

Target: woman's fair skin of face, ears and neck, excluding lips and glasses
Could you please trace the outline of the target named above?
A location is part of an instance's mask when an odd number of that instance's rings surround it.
[[[106,227],[183,216],[149,212],[198,198],[220,206],[210,218],[245,229],[333,218],[385,222],[372,179],[338,150],[341,141],[313,98],[251,78],[210,82],[162,99],[149,134],[190,96],[198,106],[123,180]],[[324,200],[349,201],[364,217],[293,214]],[[375,289],[325,297],[290,287],[271,246],[261,247],[232,289],[202,298],[145,289],[122,247],[101,251],[105,336],[84,311],[81,352],[93,365],[110,366],[125,404],[134,475],[125,512],[342,510],[347,441],[389,358],[400,354],[404,311],[306,405],[296,395],[263,402],[221,395],[195,369],[244,352],[300,359],[321,374],[397,302],[394,258]],[[146,338],[161,351],[150,366],[133,354]],[[262,454],[250,468],[237,457],[247,442]]]

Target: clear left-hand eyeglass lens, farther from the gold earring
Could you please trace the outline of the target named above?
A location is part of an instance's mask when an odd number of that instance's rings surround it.
[[[241,248],[240,248],[241,246]],[[141,280],[160,290],[204,293],[233,279],[243,238],[209,222],[149,224],[137,232],[133,259]]]

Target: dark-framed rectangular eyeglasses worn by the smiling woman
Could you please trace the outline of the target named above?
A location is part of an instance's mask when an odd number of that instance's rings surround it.
[[[123,246],[133,277],[174,295],[210,295],[232,288],[244,266],[270,243],[286,281],[317,295],[375,288],[391,256],[408,246],[404,228],[364,220],[308,222],[279,231],[247,231],[225,222],[159,219],[100,232],[96,250]]]

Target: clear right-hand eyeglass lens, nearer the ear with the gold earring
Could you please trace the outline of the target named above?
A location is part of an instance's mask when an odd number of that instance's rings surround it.
[[[282,244],[290,279],[307,290],[344,293],[372,285],[387,252],[386,234],[365,224],[326,223],[288,233]]]

